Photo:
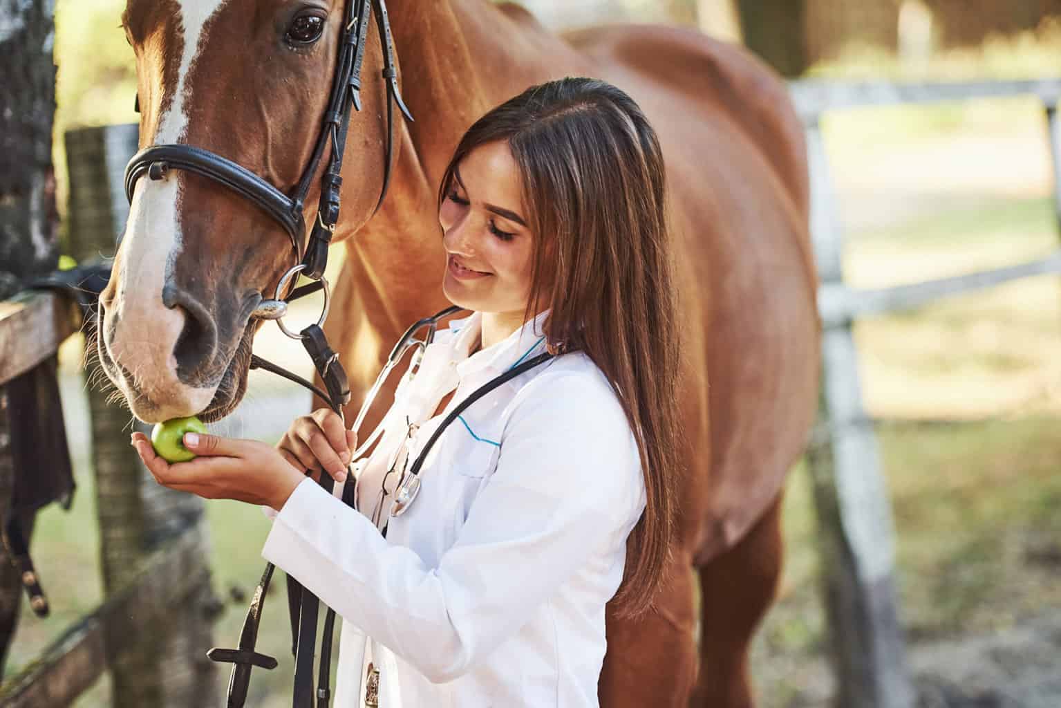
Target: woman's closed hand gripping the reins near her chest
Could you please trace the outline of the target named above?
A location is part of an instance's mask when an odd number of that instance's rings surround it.
[[[295,418],[276,447],[298,469],[328,472],[336,482],[343,482],[358,447],[358,435],[346,429],[337,413],[321,408]]]

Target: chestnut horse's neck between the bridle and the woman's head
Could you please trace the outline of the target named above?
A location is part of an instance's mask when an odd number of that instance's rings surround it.
[[[416,120],[398,118],[395,170],[380,212],[355,236],[350,227],[337,236],[351,239],[349,287],[387,342],[448,305],[441,294],[445,253],[436,195],[460,136],[494,105],[554,76],[543,56],[570,55],[560,64],[564,67],[578,61],[568,45],[515,6],[392,0],[388,8],[401,91]],[[352,156],[347,160],[346,184],[365,184],[358,162]]]

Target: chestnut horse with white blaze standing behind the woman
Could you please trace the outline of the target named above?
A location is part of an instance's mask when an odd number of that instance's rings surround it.
[[[650,612],[607,612],[599,701],[753,705],[749,644],[777,592],[784,480],[814,420],[819,366],[806,150],[784,83],[742,48],[691,30],[558,35],[510,3],[389,5],[415,122],[393,126],[392,155],[387,42],[368,32],[332,237],[344,261],[326,325],[349,374],[348,417],[403,329],[448,305],[437,189],[464,131],[563,75],[628,91],[667,163],[684,465],[665,586]],[[128,0],[141,148],[203,148],[291,193],[325,120],[345,10],[343,0]],[[384,174],[393,179],[380,204]],[[317,184],[299,214],[306,224],[319,218]],[[262,209],[193,171],[135,185],[97,348],[138,418],[211,421],[237,407],[262,325],[250,315],[291,267],[289,241]]]

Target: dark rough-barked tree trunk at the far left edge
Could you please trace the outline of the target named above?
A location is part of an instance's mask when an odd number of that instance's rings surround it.
[[[55,267],[58,214],[52,170],[55,38],[52,0],[0,0],[0,299]],[[0,386],[0,518],[11,504],[6,396]],[[27,520],[27,530],[32,520]],[[31,540],[28,538],[28,540]],[[22,590],[0,547],[0,667],[14,637]]]

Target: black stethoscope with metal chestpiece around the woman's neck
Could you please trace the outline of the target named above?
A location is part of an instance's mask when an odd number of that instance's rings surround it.
[[[420,362],[423,359],[424,350],[427,350],[428,346],[432,344],[432,342],[434,342],[435,332],[438,329],[439,321],[445,320],[446,317],[449,317],[450,315],[453,315],[457,312],[462,312],[464,308],[456,306],[447,308],[441,312],[439,312],[438,314],[420,320],[419,322],[415,323],[412,327],[410,327],[407,330],[405,330],[405,333],[402,334],[400,340],[398,340],[398,343],[395,345],[394,349],[390,350],[390,355],[387,357],[386,364],[384,364],[383,369],[376,378],[376,382],[372,384],[372,387],[368,390],[368,395],[365,397],[364,402],[361,404],[361,410],[359,411],[356,418],[354,418],[353,427],[351,428],[351,430],[353,430],[354,433],[360,432],[361,426],[365,420],[365,416],[368,414],[368,411],[371,408],[372,403],[375,402],[376,397],[379,395],[380,390],[383,387],[383,383],[387,380],[387,377],[394,370],[394,367],[397,366],[398,363],[404,358],[405,353],[411,348],[414,347],[416,348],[416,351],[413,352],[413,359],[412,362],[410,363],[410,369],[408,369],[410,370],[408,377],[410,380],[412,380],[413,377],[415,377],[417,372],[419,370]],[[417,333],[424,328],[427,328],[428,331],[427,334],[423,336],[423,339],[419,340],[416,339]],[[420,453],[417,455],[412,466],[408,466],[408,446],[412,443],[412,437],[413,437],[412,433],[413,429],[416,426],[410,424],[408,430],[406,431],[405,434],[405,438],[400,444],[400,447],[394,453],[392,453],[390,459],[387,461],[386,464],[387,471],[384,473],[384,480],[382,483],[382,485],[385,485],[386,478],[393,472],[397,472],[400,476],[398,481],[398,486],[393,493],[394,500],[390,503],[389,518],[396,518],[403,515],[405,512],[408,511],[408,507],[413,504],[413,502],[416,501],[416,498],[420,494],[420,470],[423,467],[424,460],[427,460],[428,453],[431,452],[432,447],[434,447],[435,443],[446,431],[446,429],[450,426],[450,424],[456,420],[457,417],[462,413],[464,413],[469,405],[477,401],[486,394],[490,393],[494,388],[498,388],[507,381],[516,378],[520,374],[523,374],[537,366],[540,366],[541,364],[544,364],[551,359],[553,359],[553,355],[549,353],[547,351],[542,352],[537,357],[533,357],[532,359],[528,359],[527,361],[519,364],[518,366],[508,369],[504,374],[501,374],[500,376],[491,379],[487,383],[476,388],[470,396],[468,396],[468,398],[463,400],[456,408],[454,408],[442,419],[442,421],[438,425],[438,427],[435,428],[434,433],[432,433],[431,437],[428,438],[428,442],[423,445],[423,448],[421,448]],[[369,437],[363,444],[361,444],[356,450],[354,450],[351,460],[353,461],[361,460],[383,434],[384,427],[385,426],[383,425],[378,426],[376,430],[372,431],[372,434],[369,435]],[[399,457],[402,459],[400,465],[401,469],[397,470],[396,467]],[[354,463],[351,462],[351,467],[353,466],[353,464]],[[383,496],[386,496],[385,488],[382,489],[381,493]],[[383,528],[383,533],[386,534],[386,526]]]

